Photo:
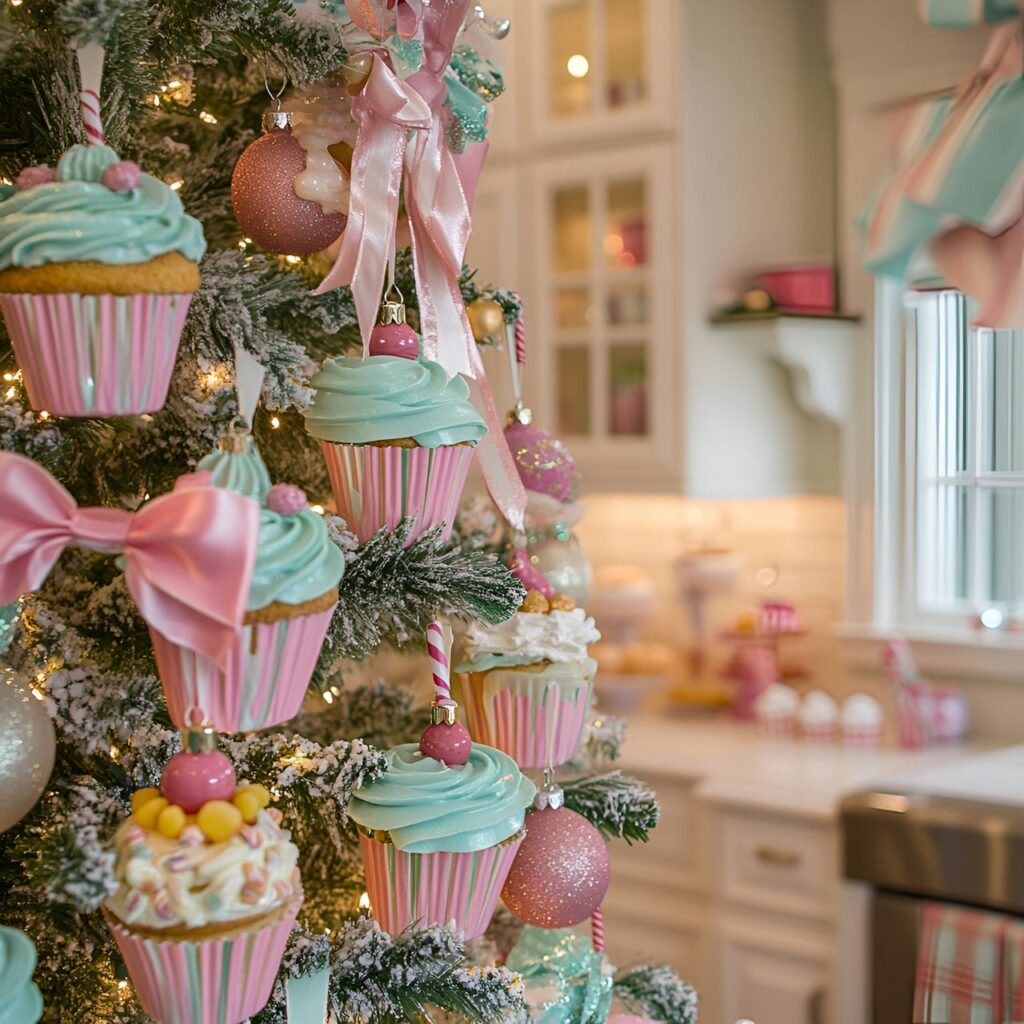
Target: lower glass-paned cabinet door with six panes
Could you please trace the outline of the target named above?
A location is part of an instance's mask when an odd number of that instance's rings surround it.
[[[552,161],[540,177],[546,422],[574,453],[660,457],[673,418],[672,148]]]

